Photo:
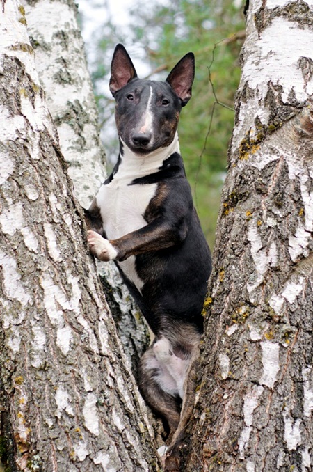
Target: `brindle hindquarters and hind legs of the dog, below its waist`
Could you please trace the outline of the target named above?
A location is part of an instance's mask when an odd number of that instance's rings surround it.
[[[181,446],[195,400],[199,342],[200,334],[190,326],[172,329],[155,339],[140,361],[141,393],[170,427],[163,457],[166,472],[179,471]]]

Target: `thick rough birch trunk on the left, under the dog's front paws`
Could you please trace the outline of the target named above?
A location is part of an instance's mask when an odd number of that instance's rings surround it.
[[[12,471],[158,470],[25,24],[1,2],[1,443]]]

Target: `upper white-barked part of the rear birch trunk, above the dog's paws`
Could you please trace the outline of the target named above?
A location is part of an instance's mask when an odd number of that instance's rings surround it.
[[[106,175],[93,86],[73,1],[23,0],[35,65],[69,164],[79,202],[88,208]]]

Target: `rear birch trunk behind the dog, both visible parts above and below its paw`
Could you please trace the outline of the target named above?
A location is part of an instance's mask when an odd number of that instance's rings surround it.
[[[97,107],[87,69],[77,5],[72,0],[24,0],[27,31],[47,107],[74,183],[88,208],[106,175]],[[118,152],[118,150],[117,150]],[[111,313],[134,372],[149,337],[143,318],[113,262],[97,263]]]

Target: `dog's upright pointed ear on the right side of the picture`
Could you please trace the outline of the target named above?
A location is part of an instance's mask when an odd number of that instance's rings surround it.
[[[168,74],[166,81],[172,87],[173,91],[182,100],[184,107],[191,99],[191,86],[195,78],[195,56],[188,52]]]

